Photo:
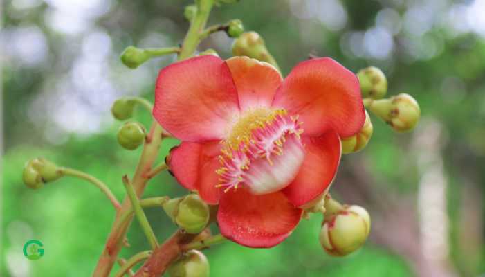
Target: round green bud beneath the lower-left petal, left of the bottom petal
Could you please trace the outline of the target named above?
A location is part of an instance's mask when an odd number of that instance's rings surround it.
[[[209,222],[209,206],[196,194],[170,199],[163,209],[187,233],[200,233]]]

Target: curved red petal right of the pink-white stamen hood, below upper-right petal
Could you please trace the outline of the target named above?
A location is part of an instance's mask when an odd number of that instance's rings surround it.
[[[302,206],[320,196],[331,184],[340,163],[341,146],[336,132],[303,137],[306,156],[300,172],[282,191],[295,206]]]

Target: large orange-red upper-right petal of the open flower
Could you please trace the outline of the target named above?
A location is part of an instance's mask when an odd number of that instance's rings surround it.
[[[273,106],[299,114],[307,136],[329,129],[341,137],[352,136],[365,120],[356,75],[329,57],[295,66],[278,89]]]

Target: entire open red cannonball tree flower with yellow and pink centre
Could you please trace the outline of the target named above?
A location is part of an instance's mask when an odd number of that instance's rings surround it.
[[[178,62],[158,75],[153,114],[182,141],[167,159],[176,179],[219,204],[221,234],[247,247],[288,237],[365,120],[356,75],[328,57],[284,80],[248,57]]]

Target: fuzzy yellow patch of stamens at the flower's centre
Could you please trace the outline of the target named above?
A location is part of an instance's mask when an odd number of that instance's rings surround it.
[[[253,130],[264,128],[278,115],[286,115],[286,111],[284,109],[256,108],[244,112],[244,114],[237,118],[237,122],[232,125],[226,139],[222,141],[226,146],[226,148],[222,150],[223,154],[230,157],[231,149],[237,150],[241,143],[244,143],[245,145],[251,143],[251,134]]]

